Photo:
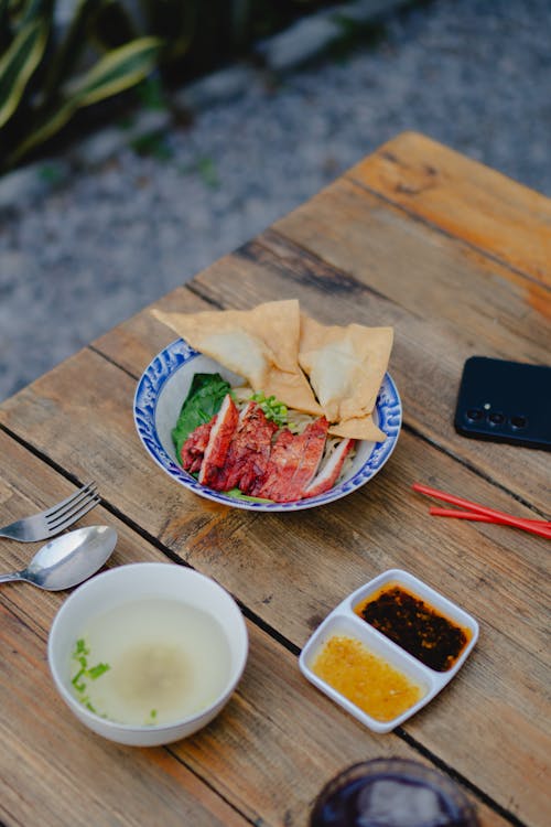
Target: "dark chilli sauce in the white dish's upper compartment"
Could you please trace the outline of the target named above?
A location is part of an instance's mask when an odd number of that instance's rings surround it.
[[[451,669],[471,637],[468,630],[397,584],[383,586],[354,611],[435,672]]]

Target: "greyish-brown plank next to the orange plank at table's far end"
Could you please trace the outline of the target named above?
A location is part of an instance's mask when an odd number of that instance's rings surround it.
[[[507,332],[522,356],[527,348],[541,348],[549,335],[548,288],[412,221],[354,181],[339,179],[273,226],[338,272],[433,324],[466,325],[473,334],[484,325],[486,347],[499,347]]]

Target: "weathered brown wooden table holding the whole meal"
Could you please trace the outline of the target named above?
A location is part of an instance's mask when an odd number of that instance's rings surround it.
[[[549,362],[550,262],[550,201],[404,133],[156,303],[198,311],[298,298],[326,324],[395,327],[397,449],[371,482],[321,508],[227,508],[154,465],[132,398],[174,335],[151,308],[1,406],[2,524],[95,479],[102,505],[83,523],[119,533],[110,565],[190,565],[240,601],[250,634],[238,691],[212,724],[168,748],[125,748],[84,729],[53,689],[46,638],[66,593],[2,587],[6,825],[305,825],[336,771],[379,755],[449,772],[485,826],[549,824],[549,545],[430,517],[411,484],[545,516],[549,454],[465,439],[452,420],[466,357]],[[35,548],[0,540],[2,569]],[[303,678],[298,655],[345,594],[392,567],[458,602],[480,638],[436,699],[377,735]]]

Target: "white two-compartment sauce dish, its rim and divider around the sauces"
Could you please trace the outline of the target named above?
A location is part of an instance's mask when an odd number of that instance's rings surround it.
[[[354,611],[356,606],[366,601],[371,594],[375,595],[378,593],[386,586],[389,588],[391,586],[402,588],[406,592],[422,600],[429,608],[442,614],[446,620],[456,624],[466,633],[467,643],[464,645],[457,659],[445,672],[436,672],[426,666]],[[348,700],[342,692],[334,689],[313,670],[314,662],[320,652],[324,648],[327,641],[335,635],[344,635],[353,641],[358,641],[372,655],[386,660],[406,678],[417,684],[421,688],[420,699],[391,720],[382,721],[367,715],[367,712]],[[422,580],[413,577],[413,574],[401,569],[389,569],[354,591],[327,615],[302,649],[299,665],[302,674],[314,686],[325,692],[325,695],[343,707],[343,709],[346,709],[366,727],[375,732],[390,732],[429,704],[450,683],[465,663],[477,638],[478,623],[474,617],[434,591],[434,589],[431,589]]]

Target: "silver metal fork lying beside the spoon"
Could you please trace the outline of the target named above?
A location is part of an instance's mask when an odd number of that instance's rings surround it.
[[[84,517],[99,502],[100,496],[96,491],[96,483],[86,483],[69,497],[62,500],[57,505],[53,505],[52,508],[46,508],[46,511],[33,514],[31,517],[24,517],[15,523],[10,523],[9,526],[3,526],[3,528],[0,528],[0,537],[9,537],[21,543],[46,540],[50,537],[55,537],[56,534],[61,534],[77,519]]]

